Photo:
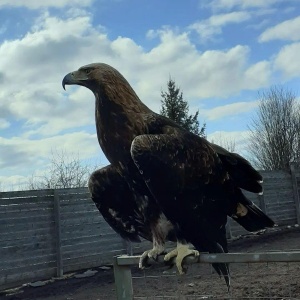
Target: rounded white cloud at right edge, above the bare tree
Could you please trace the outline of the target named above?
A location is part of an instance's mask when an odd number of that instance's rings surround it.
[[[275,57],[274,66],[280,70],[285,79],[300,76],[300,43],[284,46]]]

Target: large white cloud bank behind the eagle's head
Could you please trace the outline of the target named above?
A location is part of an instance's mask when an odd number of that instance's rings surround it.
[[[84,126],[95,126],[93,94],[82,87],[64,92],[61,86],[65,74],[82,65],[98,61],[116,67],[156,111],[169,75],[185,99],[197,101],[225,98],[270,82],[270,64],[251,64],[247,46],[200,52],[187,32],[164,28],[155,33],[157,45],[145,51],[127,37],[109,39],[102,28],[92,26],[87,14],[68,19],[44,14],[25,36],[3,42],[0,127],[13,128],[16,121],[23,125],[15,137],[0,138],[1,175],[32,174],[43,168],[53,148],[79,151],[81,158],[100,154],[95,134],[83,131]]]

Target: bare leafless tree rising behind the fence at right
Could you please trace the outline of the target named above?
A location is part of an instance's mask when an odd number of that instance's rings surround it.
[[[282,87],[259,95],[257,114],[250,125],[249,152],[258,168],[289,170],[300,159],[300,106]]]

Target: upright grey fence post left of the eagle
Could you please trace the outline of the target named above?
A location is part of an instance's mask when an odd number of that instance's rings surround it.
[[[54,221],[55,221],[55,237],[56,237],[56,262],[57,262],[57,277],[63,276],[63,260],[61,253],[61,224],[60,224],[60,203],[58,191],[53,191],[54,200]]]

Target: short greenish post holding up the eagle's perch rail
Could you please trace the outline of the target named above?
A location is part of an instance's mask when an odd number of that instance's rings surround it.
[[[114,257],[114,276],[117,300],[133,300],[133,288],[130,266],[120,266],[118,257]]]

